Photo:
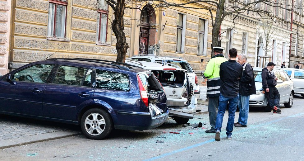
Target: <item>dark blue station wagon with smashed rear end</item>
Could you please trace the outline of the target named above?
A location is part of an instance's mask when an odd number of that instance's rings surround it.
[[[79,124],[90,139],[162,125],[168,108],[158,79],[117,64],[54,58],[15,69],[0,77],[0,113]]]

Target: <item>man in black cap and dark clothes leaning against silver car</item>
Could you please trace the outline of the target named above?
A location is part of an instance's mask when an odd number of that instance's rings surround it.
[[[273,62],[269,62],[267,67],[262,70],[262,86],[269,106],[273,109],[274,113],[281,113],[281,109],[279,108],[280,93],[275,87],[278,77],[276,77],[272,71],[275,65]]]

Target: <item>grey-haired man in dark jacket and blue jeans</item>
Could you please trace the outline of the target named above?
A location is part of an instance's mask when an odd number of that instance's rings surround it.
[[[238,108],[240,113],[238,121],[234,123],[235,127],[247,127],[249,99],[251,94],[256,94],[256,84],[254,82],[253,69],[247,62],[246,54],[238,56],[238,63],[243,66],[243,75],[239,81],[240,93],[238,97]]]

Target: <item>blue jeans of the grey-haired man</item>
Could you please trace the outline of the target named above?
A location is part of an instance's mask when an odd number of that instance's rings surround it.
[[[249,98],[250,95],[239,95],[238,97],[238,109],[240,114],[238,115],[238,121],[242,125],[247,125],[248,112],[249,112]]]

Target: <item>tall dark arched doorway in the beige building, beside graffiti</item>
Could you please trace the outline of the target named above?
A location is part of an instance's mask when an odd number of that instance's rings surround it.
[[[145,5],[140,13],[139,54],[148,54],[149,45],[155,43],[155,33],[151,35],[150,29],[151,23],[155,22],[154,9],[150,5]],[[151,40],[150,36],[154,36],[154,39]]]

